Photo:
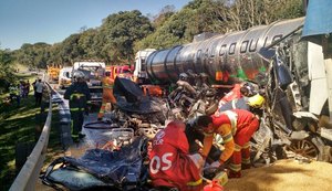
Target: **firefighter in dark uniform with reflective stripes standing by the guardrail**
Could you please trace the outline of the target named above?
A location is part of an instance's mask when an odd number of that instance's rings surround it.
[[[83,72],[74,72],[73,77],[74,83],[65,91],[63,97],[69,99],[70,103],[72,137],[76,141],[79,138],[85,137],[81,130],[84,121],[84,113],[87,114],[89,112],[87,103],[91,99],[91,95]]]

